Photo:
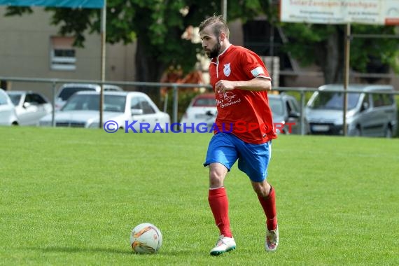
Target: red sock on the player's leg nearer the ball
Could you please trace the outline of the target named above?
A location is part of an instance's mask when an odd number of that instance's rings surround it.
[[[221,235],[232,237],[229,221],[229,202],[225,188],[210,189],[208,202]]]

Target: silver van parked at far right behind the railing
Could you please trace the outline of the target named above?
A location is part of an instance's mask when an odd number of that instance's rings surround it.
[[[349,85],[346,126],[349,136],[393,137],[397,106],[390,85]],[[323,85],[306,107],[311,134],[343,134],[344,86]],[[338,91],[331,91],[338,90]]]

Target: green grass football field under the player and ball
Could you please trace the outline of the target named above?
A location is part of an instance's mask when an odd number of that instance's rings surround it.
[[[218,230],[202,167],[211,134],[0,127],[0,265],[399,265],[399,139],[280,136],[269,182],[280,245],[237,166],[225,181],[237,250]],[[154,223],[155,255],[130,230]]]

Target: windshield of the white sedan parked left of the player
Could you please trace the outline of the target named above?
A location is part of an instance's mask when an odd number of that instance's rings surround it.
[[[109,112],[125,112],[126,97],[124,95],[104,95],[103,110]],[[99,111],[98,94],[75,94],[62,111]]]

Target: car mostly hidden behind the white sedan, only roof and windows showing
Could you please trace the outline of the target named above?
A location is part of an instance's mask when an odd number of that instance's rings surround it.
[[[87,84],[87,83],[66,83],[59,88],[57,97],[55,99],[55,110],[62,109],[62,106],[75,92],[80,92],[82,90],[91,90],[99,92],[101,86],[98,84]],[[119,91],[122,92],[123,89],[117,85],[104,84],[104,92],[106,91]]]

